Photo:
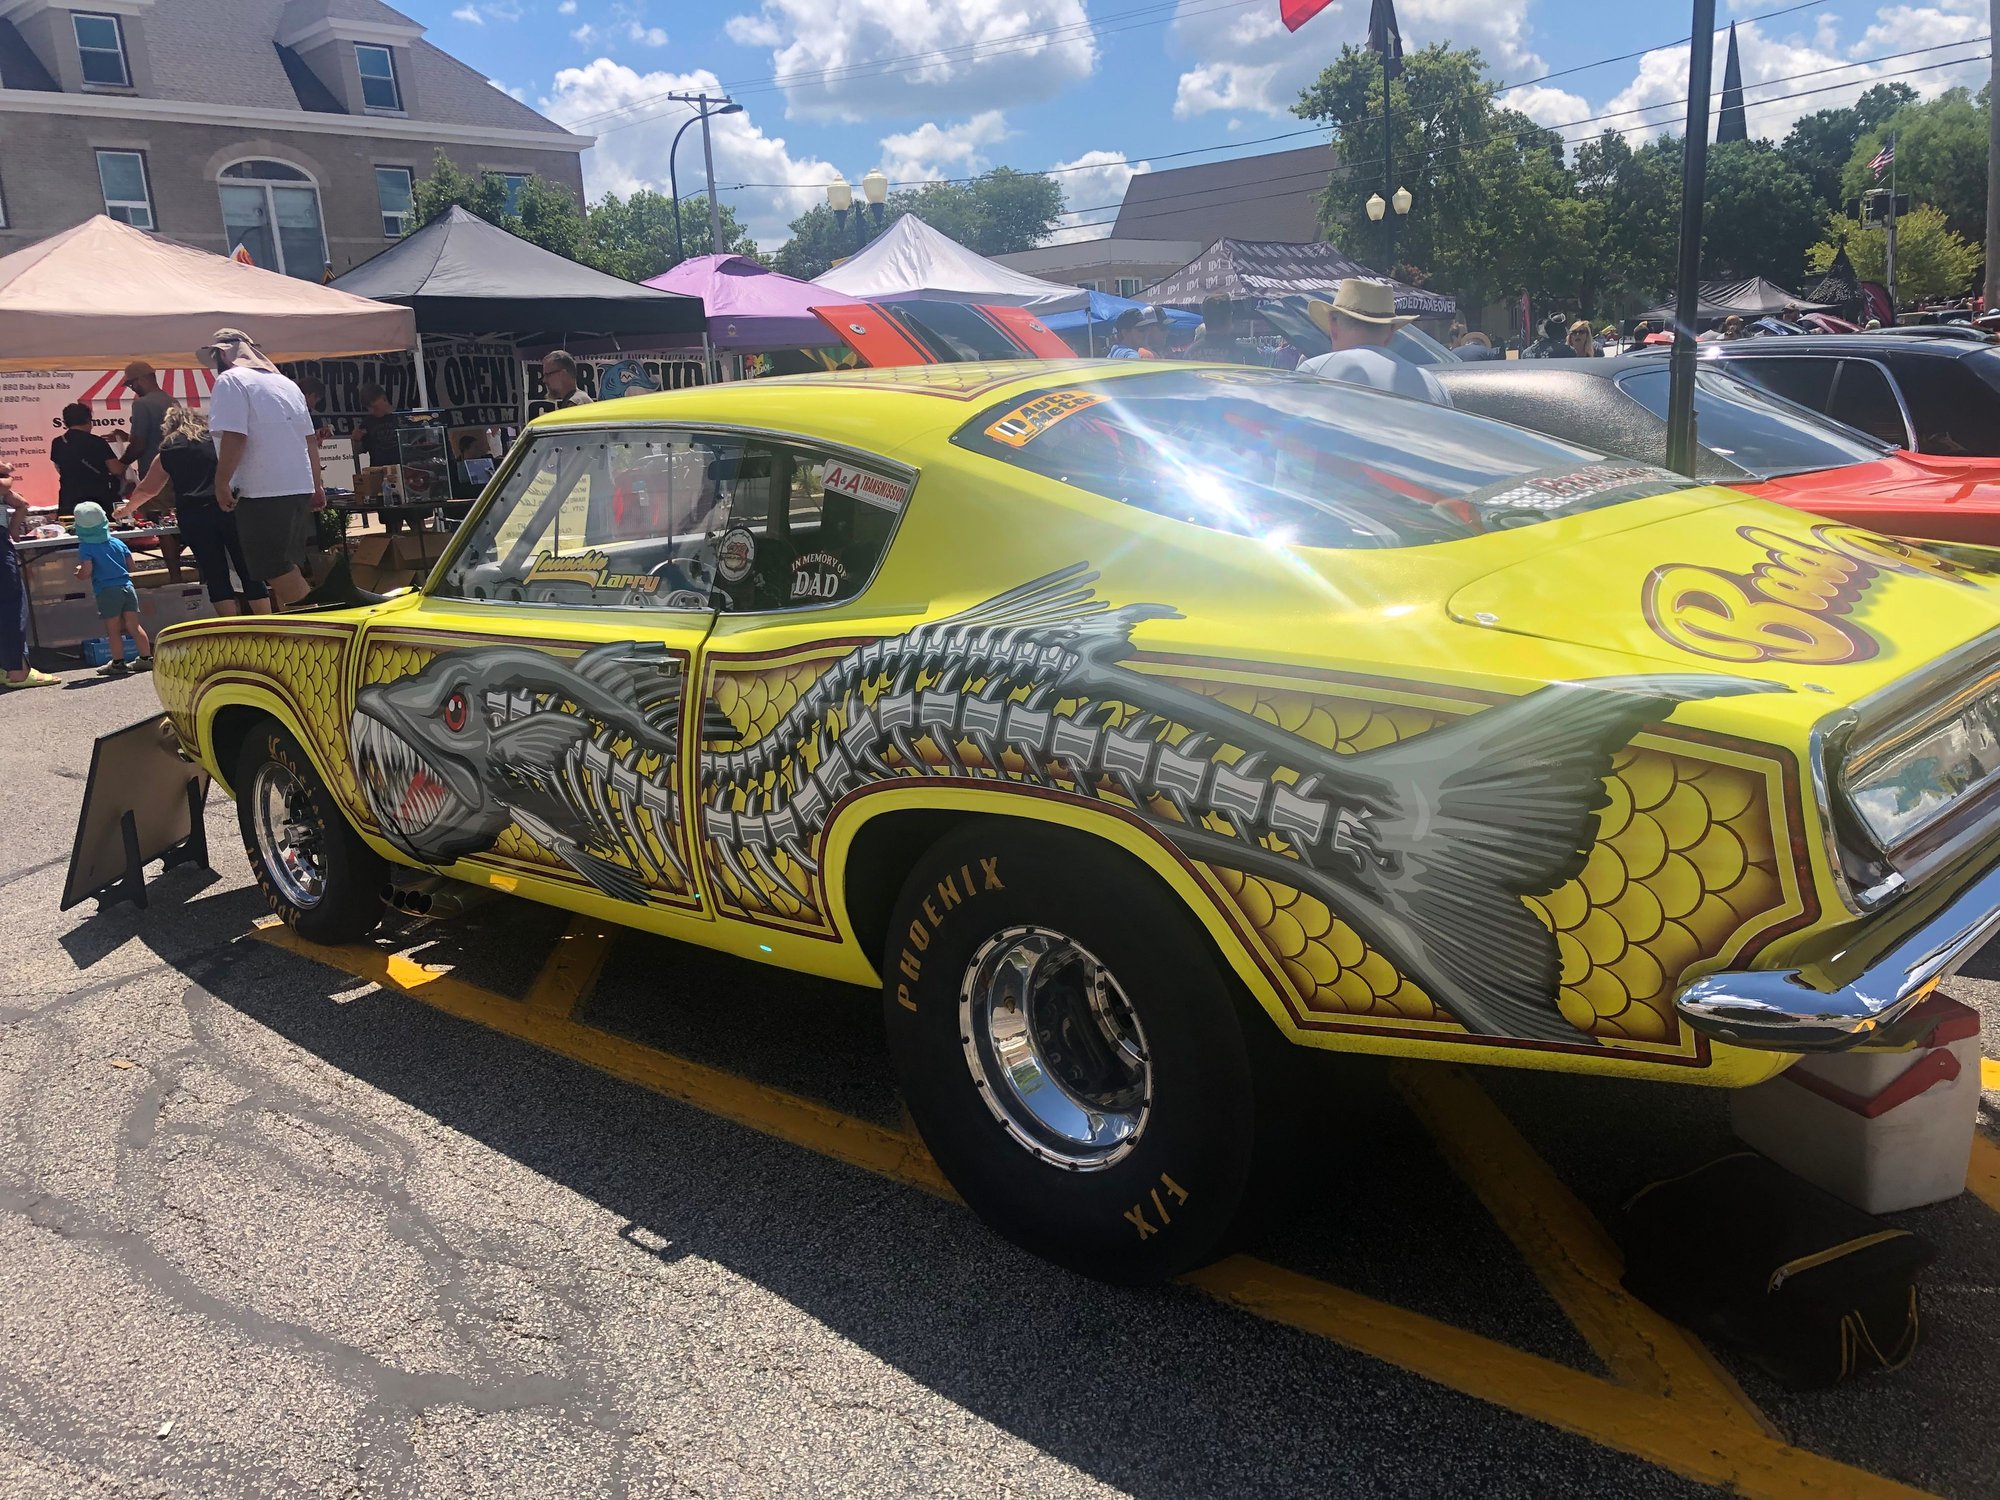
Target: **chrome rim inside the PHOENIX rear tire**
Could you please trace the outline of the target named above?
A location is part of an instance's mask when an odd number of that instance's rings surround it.
[[[1072,938],[1022,926],[980,944],[958,990],[958,1036],[986,1108],[1044,1162],[1112,1166],[1146,1130],[1146,1032]]]

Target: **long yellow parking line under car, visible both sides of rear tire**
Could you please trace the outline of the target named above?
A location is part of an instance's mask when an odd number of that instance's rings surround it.
[[[922,1142],[844,1116],[824,1104],[766,1088],[746,1078],[656,1052],[566,1016],[524,1006],[450,974],[370,946],[322,948],[286,926],[264,926],[256,938],[336,968],[354,978],[400,990],[450,1016],[488,1026],[534,1046],[574,1058],[622,1082],[650,1088],[766,1136],[876,1172],[894,1182],[954,1196]],[[1450,1390],[1574,1432],[1588,1442],[1630,1454],[1706,1484],[1760,1500],[1854,1500],[1916,1496],[1922,1490],[1790,1448],[1744,1422],[1722,1422],[1704,1406],[1662,1400],[1572,1370],[1538,1354],[1470,1334],[1416,1312],[1376,1302],[1346,1288],[1278,1266],[1234,1256],[1182,1278],[1220,1302],[1268,1322],[1298,1328],[1396,1364]]]

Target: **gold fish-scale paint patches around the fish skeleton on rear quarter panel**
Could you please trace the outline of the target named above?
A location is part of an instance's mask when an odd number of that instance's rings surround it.
[[[828,654],[770,668],[718,670],[710,692],[742,734],[742,744],[752,744],[836,660]],[[1172,680],[1338,754],[1378,750],[1452,718],[1354,692]],[[968,764],[976,760],[970,750],[964,758]],[[1696,746],[1674,752],[1628,748],[1614,756],[1604,782],[1600,838],[1582,874],[1528,902],[1556,934],[1562,958],[1558,1004],[1590,1036],[1682,1046],[1686,1038],[1672,998],[1688,972],[1740,952],[1760,932],[1802,914],[1796,870],[1778,854],[1774,808],[1784,806],[1782,768],[1740,760],[1740,754],[1704,758]],[[904,770],[896,762],[892,768]],[[1024,774],[1010,758],[1002,760],[1002,770],[1016,778]],[[1144,812],[1160,820],[1176,816],[1164,804]],[[1206,868],[1242,918],[1240,926],[1264,950],[1270,970],[1282,976],[1282,988],[1304,1020],[1376,1018],[1462,1034],[1418,984],[1310,892],[1242,870]],[[764,882],[716,874],[728,904],[746,916],[824,922],[816,908],[800,906]],[[786,866],[786,876],[800,892],[816,890],[796,866]]]

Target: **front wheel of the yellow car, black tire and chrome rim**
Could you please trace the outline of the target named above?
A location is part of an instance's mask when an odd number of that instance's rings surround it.
[[[270,910],[312,942],[356,942],[382,920],[388,860],[368,848],[312,760],[276,722],[244,742],[236,826]]]

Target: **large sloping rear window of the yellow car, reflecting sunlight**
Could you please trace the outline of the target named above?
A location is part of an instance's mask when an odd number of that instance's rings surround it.
[[[1246,368],[1050,384],[952,442],[1190,526],[1328,548],[1450,542],[1686,488],[1450,408]]]

